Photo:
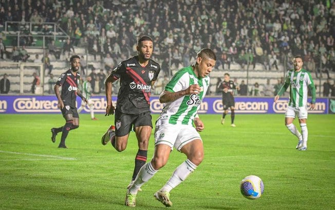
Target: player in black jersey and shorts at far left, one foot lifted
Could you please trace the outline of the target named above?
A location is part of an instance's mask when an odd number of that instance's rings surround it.
[[[80,66],[80,57],[72,56],[70,58],[71,68],[63,73],[60,78],[58,78],[56,84],[54,85],[54,93],[58,99],[58,108],[61,109],[63,117],[65,119],[65,125],[60,128],[51,128],[51,141],[54,143],[56,141],[56,135],[62,132],[61,143],[59,148],[67,148],[65,146],[65,139],[70,130],[79,127],[79,115],[76,107],[76,97],[77,95],[81,97],[83,101],[88,103],[88,100],[83,97],[80,90],[78,89],[78,83],[80,74],[77,73]],[[62,93],[60,94],[59,88],[62,86]]]

